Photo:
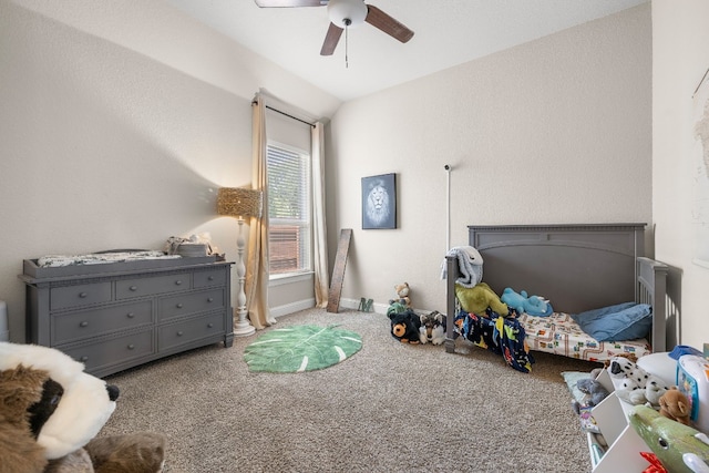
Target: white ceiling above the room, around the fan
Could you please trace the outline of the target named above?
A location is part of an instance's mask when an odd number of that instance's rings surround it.
[[[341,101],[348,101],[585,23],[649,0],[367,0],[414,37],[405,44],[364,23],[331,56],[320,48],[326,7],[258,8],[253,0],[167,0]]]

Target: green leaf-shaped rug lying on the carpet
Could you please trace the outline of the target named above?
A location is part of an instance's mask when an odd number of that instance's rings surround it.
[[[337,326],[295,326],[269,330],[244,350],[250,371],[292,373],[331,367],[357,353],[362,338]]]

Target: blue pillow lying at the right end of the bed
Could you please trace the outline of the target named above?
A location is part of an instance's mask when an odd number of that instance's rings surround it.
[[[598,341],[645,338],[653,327],[653,308],[647,304],[623,302],[582,313],[572,313],[583,331]]]

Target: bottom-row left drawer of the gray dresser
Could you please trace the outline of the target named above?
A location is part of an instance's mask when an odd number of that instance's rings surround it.
[[[152,329],[89,342],[81,347],[60,349],[74,360],[84,363],[86,371],[95,371],[116,362],[124,363],[155,352]]]

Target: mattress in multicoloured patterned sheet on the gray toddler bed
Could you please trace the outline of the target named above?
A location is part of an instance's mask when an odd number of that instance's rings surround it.
[[[568,313],[548,317],[523,313],[517,317],[526,331],[530,350],[546,351],[587,361],[606,361],[619,353],[635,353],[640,358],[651,353],[650,343],[641,338],[626,341],[597,341],[584,332]]]

